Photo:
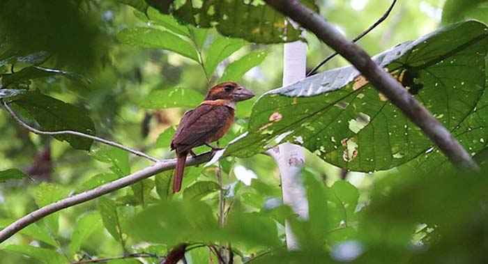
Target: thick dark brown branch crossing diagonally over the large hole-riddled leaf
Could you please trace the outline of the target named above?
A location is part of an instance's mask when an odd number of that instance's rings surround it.
[[[446,157],[462,169],[478,170],[471,155],[452,137],[452,134],[425,109],[396,79],[379,67],[358,45],[346,40],[335,27],[320,15],[303,6],[297,0],[265,0],[270,6],[305,29],[312,31],[329,47],[335,49],[344,59],[356,67],[364,77],[403,113],[418,125]]]

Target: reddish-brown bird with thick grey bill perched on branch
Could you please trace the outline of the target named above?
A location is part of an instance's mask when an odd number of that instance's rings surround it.
[[[195,156],[192,148],[206,145],[215,150],[210,143],[222,138],[234,123],[236,102],[252,97],[252,91],[235,82],[226,81],[213,86],[204,102],[183,115],[171,141],[171,150],[176,150],[177,157],[173,192],[179,192],[181,189],[186,157],[188,153]]]

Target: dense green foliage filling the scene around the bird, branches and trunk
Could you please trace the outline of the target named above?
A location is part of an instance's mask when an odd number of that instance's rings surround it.
[[[348,38],[389,4],[302,2]],[[485,1],[445,1],[441,21],[442,3],[399,1],[397,17],[361,45],[381,52],[376,61],[483,165],[487,26],[462,21],[486,22]],[[218,164],[187,167],[181,193],[172,194],[173,171],[165,171],[61,210],[1,243],[2,263],[160,263],[183,254],[188,263],[218,263],[220,246],[231,247],[223,251],[234,263],[484,263],[485,165],[478,174],[453,171],[344,60],[269,91],[280,86],[282,49],[263,43],[305,38],[310,67],[330,53],[301,33],[262,1],[1,1],[0,99],[40,130],[77,130],[173,157],[175,126],[208,86],[233,80],[264,93],[238,104],[220,146],[247,136]],[[26,132],[7,111],[0,132],[0,228],[150,164],[91,139]],[[259,155],[284,141],[310,150],[306,220],[282,205],[277,168]],[[285,250],[285,220],[300,251]]]

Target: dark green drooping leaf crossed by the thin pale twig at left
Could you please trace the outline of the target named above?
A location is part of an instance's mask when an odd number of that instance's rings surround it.
[[[43,95],[38,91],[24,93],[14,100],[18,107],[29,112],[40,127],[47,131],[74,130],[95,134],[95,125],[84,109]],[[73,148],[89,150],[92,139],[70,134],[54,135],[60,141],[68,141]]]

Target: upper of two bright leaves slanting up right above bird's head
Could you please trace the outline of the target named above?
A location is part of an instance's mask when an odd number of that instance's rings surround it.
[[[244,47],[245,44],[244,40],[217,36],[206,52],[204,63],[206,75],[211,77],[220,62]]]

